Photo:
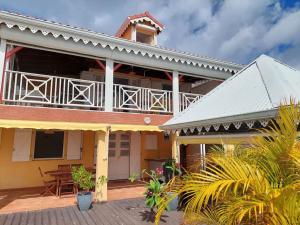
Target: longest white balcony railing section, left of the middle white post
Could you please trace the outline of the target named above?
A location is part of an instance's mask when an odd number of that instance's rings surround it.
[[[104,106],[104,83],[6,71],[3,100],[25,105],[101,109]]]

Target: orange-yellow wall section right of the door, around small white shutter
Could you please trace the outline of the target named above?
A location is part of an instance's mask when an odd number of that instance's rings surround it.
[[[157,135],[157,149],[146,150],[145,141],[147,134]],[[141,133],[141,170],[149,169],[149,161],[145,159],[169,159],[172,158],[171,138],[164,139],[162,132],[142,132]]]

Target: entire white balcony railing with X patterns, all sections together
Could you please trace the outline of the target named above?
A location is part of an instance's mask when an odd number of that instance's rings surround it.
[[[113,99],[105,98],[105,83],[7,70],[3,80],[4,104],[138,113],[173,113],[172,91],[113,84]],[[202,95],[179,93],[179,109],[186,109]]]

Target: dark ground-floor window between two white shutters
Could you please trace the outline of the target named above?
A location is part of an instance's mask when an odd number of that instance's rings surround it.
[[[64,152],[63,131],[36,131],[35,159],[62,158]]]

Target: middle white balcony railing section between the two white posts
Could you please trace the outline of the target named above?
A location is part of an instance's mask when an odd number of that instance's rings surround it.
[[[114,109],[172,113],[172,92],[114,84]]]

